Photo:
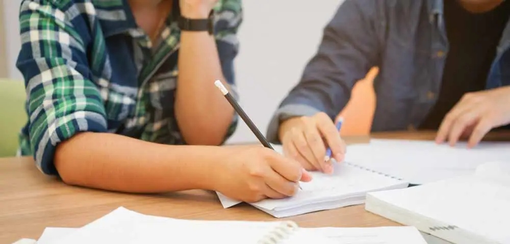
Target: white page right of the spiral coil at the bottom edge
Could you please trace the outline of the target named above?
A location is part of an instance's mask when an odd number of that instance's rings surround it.
[[[427,244],[418,229],[410,226],[374,228],[307,228],[337,244]]]

